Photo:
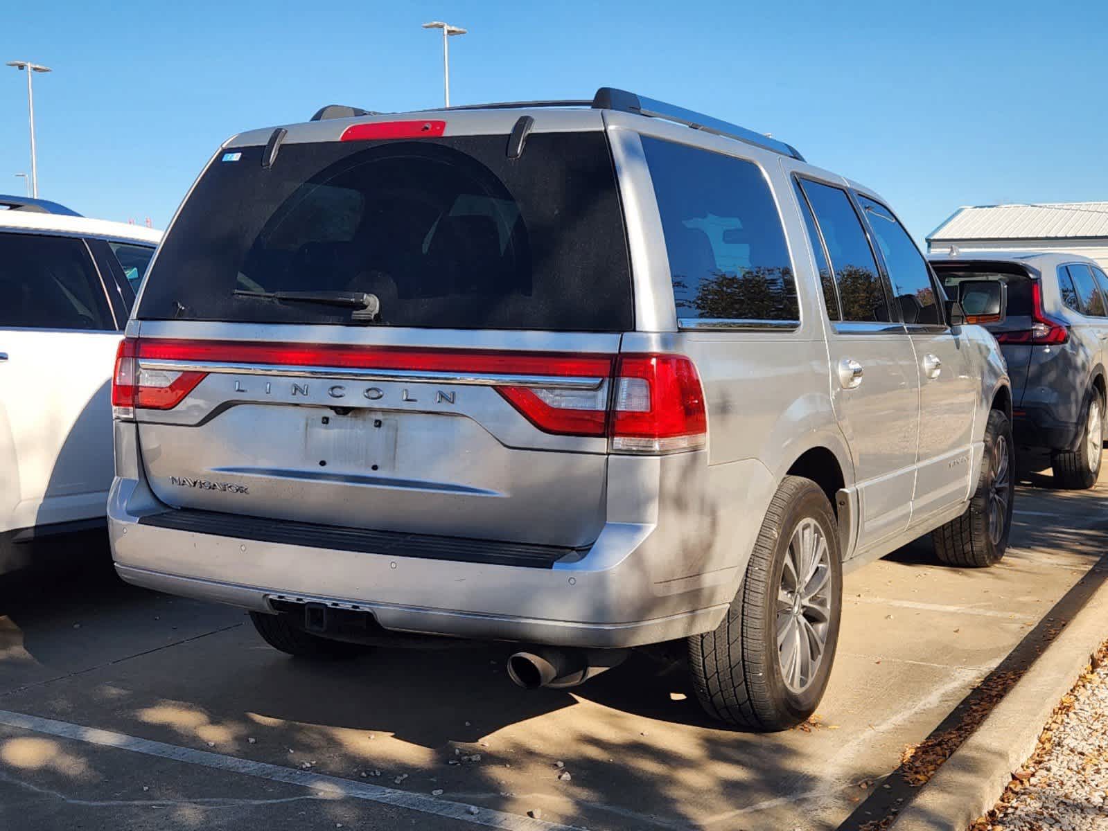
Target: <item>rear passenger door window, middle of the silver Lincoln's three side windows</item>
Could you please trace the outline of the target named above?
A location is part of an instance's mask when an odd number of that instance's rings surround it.
[[[891,321],[878,260],[850,196],[841,187],[803,179],[802,187],[827,244],[842,319]]]

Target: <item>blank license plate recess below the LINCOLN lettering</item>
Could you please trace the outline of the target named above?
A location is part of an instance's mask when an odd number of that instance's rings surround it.
[[[392,473],[397,464],[398,420],[380,412],[352,410],[311,414],[305,437],[309,463],[337,472]]]

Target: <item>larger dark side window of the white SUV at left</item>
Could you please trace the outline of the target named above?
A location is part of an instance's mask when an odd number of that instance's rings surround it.
[[[0,234],[0,326],[115,330],[100,275],[82,240]]]

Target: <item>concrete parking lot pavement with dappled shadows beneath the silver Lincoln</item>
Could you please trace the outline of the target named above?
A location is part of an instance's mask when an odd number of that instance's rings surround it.
[[[1025,472],[996,567],[917,542],[850,574],[819,716],[772,736],[714,725],[637,656],[524,693],[502,645],[320,665],[105,567],[9,575],[0,828],[832,829],[1097,561],[1106,494]]]

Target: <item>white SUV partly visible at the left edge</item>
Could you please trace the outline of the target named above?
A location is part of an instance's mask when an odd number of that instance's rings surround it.
[[[161,232],[0,196],[0,572],[104,525],[112,359]]]

